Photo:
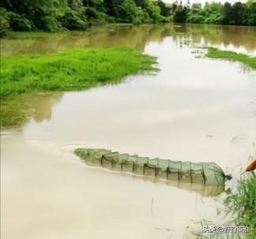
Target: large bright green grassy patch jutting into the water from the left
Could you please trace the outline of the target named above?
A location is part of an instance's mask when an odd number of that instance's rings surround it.
[[[24,95],[114,84],[129,75],[155,70],[155,63],[156,58],[126,47],[2,57],[1,126],[24,121]]]

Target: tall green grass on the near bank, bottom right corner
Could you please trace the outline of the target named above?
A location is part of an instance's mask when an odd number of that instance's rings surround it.
[[[256,174],[240,181],[238,192],[228,196],[228,207],[236,215],[238,226],[249,226],[247,239],[254,239],[256,235]]]

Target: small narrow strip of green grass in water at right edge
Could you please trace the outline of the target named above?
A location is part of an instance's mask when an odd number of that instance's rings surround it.
[[[247,54],[239,54],[229,50],[218,50],[213,47],[207,47],[206,57],[224,59],[231,62],[242,62],[244,65],[252,69],[256,69],[256,58],[250,57]]]

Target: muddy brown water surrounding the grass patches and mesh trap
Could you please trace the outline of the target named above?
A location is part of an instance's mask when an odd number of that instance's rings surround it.
[[[226,189],[235,190],[255,151],[256,73],[198,58],[196,47],[256,55],[255,38],[253,27],[147,25],[3,40],[3,55],[136,47],[156,56],[160,71],[40,95],[26,125],[2,130],[2,238],[182,238],[186,226],[200,232],[203,219],[221,222],[226,192],[209,196],[211,189],[88,167],[73,149],[214,161],[233,174]]]

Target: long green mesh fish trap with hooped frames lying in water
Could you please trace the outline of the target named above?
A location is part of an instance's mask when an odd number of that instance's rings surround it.
[[[91,166],[103,166],[109,170],[156,177],[169,181],[222,185],[228,178],[215,162],[194,163],[159,158],[149,159],[148,157],[120,154],[106,149],[78,148],[75,154]]]

